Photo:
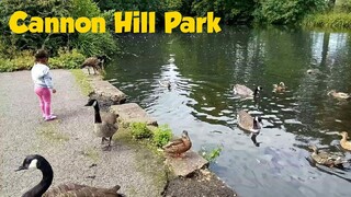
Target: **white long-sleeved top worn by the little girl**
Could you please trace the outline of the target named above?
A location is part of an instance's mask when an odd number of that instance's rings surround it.
[[[46,65],[36,62],[32,70],[32,79],[34,88],[48,88],[53,89],[53,78],[49,72],[49,68]]]

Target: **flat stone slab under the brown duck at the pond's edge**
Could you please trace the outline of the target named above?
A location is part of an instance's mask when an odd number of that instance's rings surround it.
[[[185,153],[184,158],[167,157],[166,163],[177,176],[188,176],[208,164],[207,160],[191,150]]]

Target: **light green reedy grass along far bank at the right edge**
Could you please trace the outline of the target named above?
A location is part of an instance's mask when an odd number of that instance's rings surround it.
[[[302,23],[306,27],[350,30],[351,13],[318,13],[306,16]]]

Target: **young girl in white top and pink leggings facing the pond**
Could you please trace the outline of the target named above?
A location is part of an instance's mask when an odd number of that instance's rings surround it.
[[[31,70],[34,82],[34,92],[39,97],[43,117],[46,121],[56,118],[52,114],[52,91],[56,93],[53,88],[52,76],[47,67],[48,54],[44,49],[39,49],[35,54],[35,63]]]

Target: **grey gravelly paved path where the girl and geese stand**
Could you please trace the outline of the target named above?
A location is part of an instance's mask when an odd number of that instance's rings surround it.
[[[67,70],[52,73],[57,90],[53,111],[59,118],[48,123],[42,119],[30,72],[0,73],[0,196],[21,196],[39,182],[39,171],[14,172],[25,155],[34,153],[52,163],[54,186],[118,184],[127,196],[160,196],[160,187],[138,166],[143,162],[138,149],[117,139],[111,152],[101,151],[101,139],[93,135],[93,108],[83,106],[88,97],[73,76]]]

